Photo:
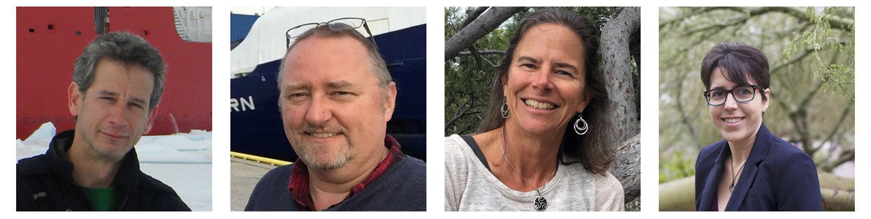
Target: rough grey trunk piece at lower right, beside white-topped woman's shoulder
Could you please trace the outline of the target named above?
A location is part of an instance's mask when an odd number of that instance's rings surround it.
[[[611,169],[611,175],[617,177],[623,184],[623,200],[632,202],[641,196],[641,135],[635,135],[614,150],[616,159]]]

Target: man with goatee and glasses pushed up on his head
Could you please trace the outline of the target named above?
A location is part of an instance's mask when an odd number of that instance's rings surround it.
[[[246,210],[426,210],[426,163],[386,134],[396,84],[375,43],[344,23],[316,26],[295,37],[278,73],[300,158],[263,176]]]

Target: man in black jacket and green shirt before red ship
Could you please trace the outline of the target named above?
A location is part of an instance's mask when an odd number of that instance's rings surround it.
[[[75,63],[68,106],[76,129],[18,161],[17,210],[190,210],[139,170],[133,145],[152,128],[165,64],[145,39],[110,33]]]

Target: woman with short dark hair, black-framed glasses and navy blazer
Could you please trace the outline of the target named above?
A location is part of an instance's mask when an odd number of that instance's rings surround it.
[[[771,101],[766,56],[720,43],[702,61],[701,79],[724,140],[699,153],[696,210],[821,210],[814,161],[762,123]]]

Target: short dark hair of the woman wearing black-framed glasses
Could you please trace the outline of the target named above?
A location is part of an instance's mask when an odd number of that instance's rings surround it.
[[[768,58],[759,49],[746,44],[719,43],[708,51],[702,59],[701,70],[705,90],[711,90],[711,75],[717,69],[723,71],[726,80],[739,85],[750,84],[750,79],[753,79],[759,90],[766,90],[771,83]],[[762,100],[767,98],[762,96]]]

